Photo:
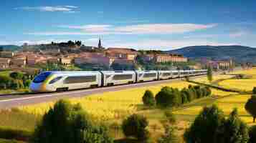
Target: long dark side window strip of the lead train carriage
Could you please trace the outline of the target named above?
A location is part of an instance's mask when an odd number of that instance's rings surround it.
[[[96,76],[77,76],[77,77],[67,77],[64,80],[65,84],[78,84],[84,82],[95,82]]]

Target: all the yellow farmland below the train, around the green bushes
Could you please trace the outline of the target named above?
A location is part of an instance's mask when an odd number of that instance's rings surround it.
[[[253,75],[256,72],[255,69],[248,71],[237,71],[239,74],[250,74],[252,79],[255,80],[256,77]],[[232,73],[234,74],[234,73]],[[252,91],[252,87],[256,87],[254,82],[247,82],[247,79],[230,79],[230,75],[218,75],[214,76],[214,82],[222,80],[219,85],[228,85],[231,88],[237,88],[237,83],[240,80],[245,81],[245,85],[241,86],[242,90]],[[235,82],[230,82],[234,80]],[[196,82],[207,83],[207,78],[196,79]],[[120,121],[129,114],[138,113],[143,114],[149,119],[150,131],[156,132],[154,136],[158,136],[163,132],[163,127],[161,126],[164,117],[163,109],[147,109],[143,107],[142,97],[146,89],[150,89],[153,94],[156,94],[164,86],[174,87],[182,89],[189,86],[189,82],[174,82],[169,84],[158,84],[151,87],[139,87],[133,89],[124,89],[117,92],[105,92],[102,94],[93,94],[88,97],[70,99],[73,104],[80,103],[82,107],[92,115],[95,121],[105,122],[108,124],[120,124]],[[212,89],[212,97],[204,97],[202,99],[196,99],[189,104],[184,104],[184,106],[174,109],[174,114],[177,120],[177,129],[179,134],[184,132],[184,129],[189,126],[191,121],[194,120],[196,114],[202,110],[202,107],[209,106],[212,104],[217,104],[220,109],[224,111],[225,115],[228,115],[233,108],[237,108],[242,120],[252,125],[252,117],[245,111],[245,102],[250,98],[250,94],[239,94],[234,92],[222,92],[217,89]],[[34,104],[27,107],[19,107],[18,109],[4,110],[0,112],[1,122],[0,127],[6,127],[11,129],[24,129],[32,131],[34,126],[37,124],[42,114],[47,112],[49,107],[52,107],[54,102],[48,102],[43,104]],[[115,133],[113,137],[122,137],[122,134]]]

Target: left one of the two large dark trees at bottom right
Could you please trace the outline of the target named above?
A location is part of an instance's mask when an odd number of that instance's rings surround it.
[[[204,107],[184,133],[184,139],[189,143],[217,143],[224,121],[224,113],[216,105]]]

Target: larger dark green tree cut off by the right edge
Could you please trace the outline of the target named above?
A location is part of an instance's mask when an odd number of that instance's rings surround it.
[[[256,95],[252,95],[250,99],[245,104],[246,111],[252,115],[253,122],[255,122],[256,119]]]

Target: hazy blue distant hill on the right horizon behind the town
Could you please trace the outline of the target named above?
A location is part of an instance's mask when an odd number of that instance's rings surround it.
[[[209,57],[212,59],[232,58],[239,63],[256,63],[256,48],[249,46],[187,46],[167,52],[183,54],[191,59],[199,59],[201,57]]]

